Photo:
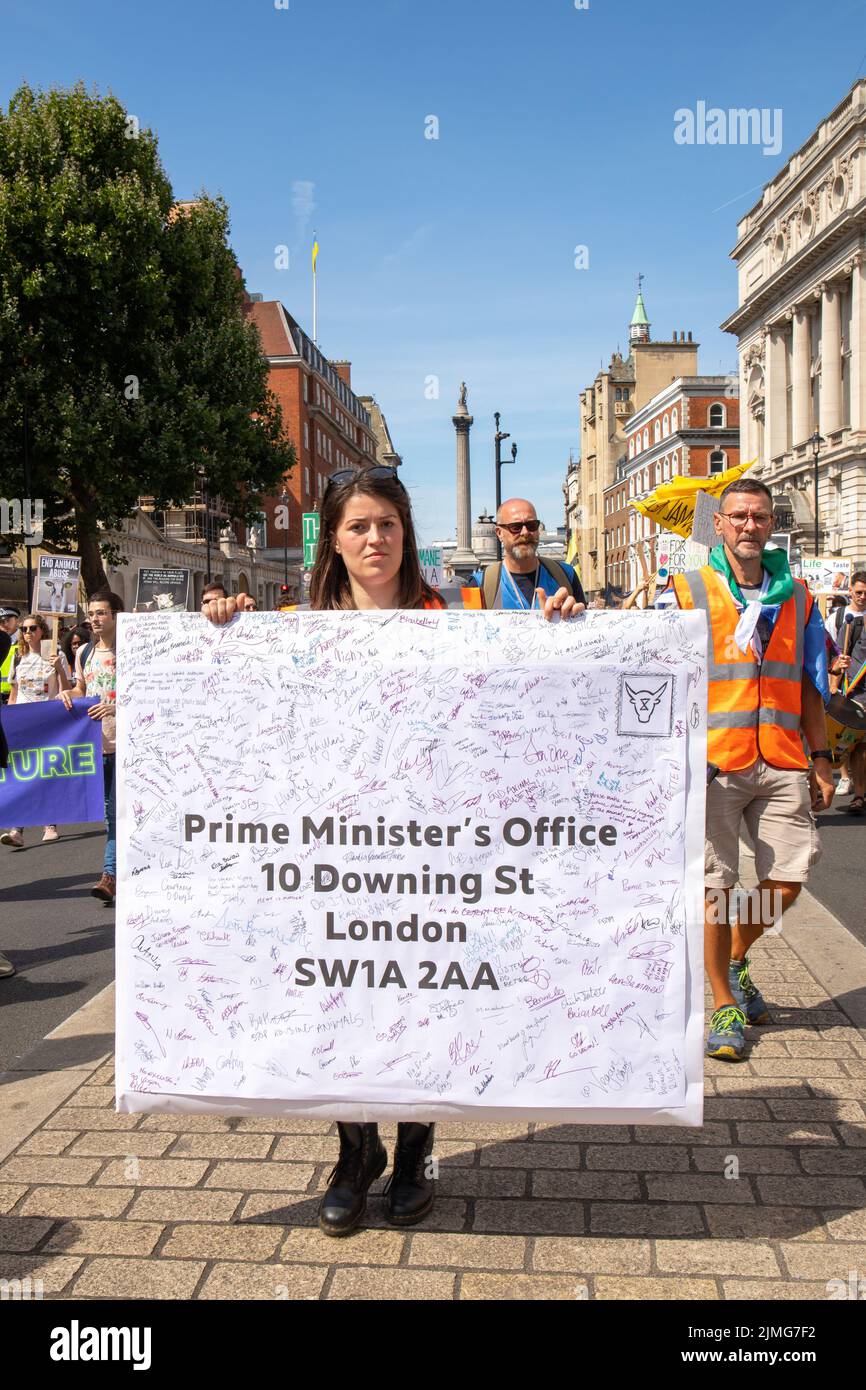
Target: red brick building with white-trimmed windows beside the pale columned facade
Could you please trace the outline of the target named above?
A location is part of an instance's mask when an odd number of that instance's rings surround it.
[[[607,584],[628,594],[655,569],[656,524],[631,502],[677,475],[705,478],[740,463],[740,389],[735,377],[680,377],[626,424],[626,455],[605,489]]]

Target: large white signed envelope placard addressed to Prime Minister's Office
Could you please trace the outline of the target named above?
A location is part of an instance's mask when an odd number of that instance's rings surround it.
[[[699,613],[124,614],[122,1111],[702,1118]]]

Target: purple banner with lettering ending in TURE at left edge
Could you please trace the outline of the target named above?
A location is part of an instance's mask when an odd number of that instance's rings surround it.
[[[103,820],[103,726],[95,699],[67,710],[58,699],[4,705],[8,767],[0,767],[1,826],[70,826]]]

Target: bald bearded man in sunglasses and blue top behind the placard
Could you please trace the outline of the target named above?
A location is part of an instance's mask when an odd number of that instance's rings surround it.
[[[525,498],[509,498],[496,513],[502,564],[475,570],[473,584],[484,594],[484,607],[537,609],[552,596],[563,617],[587,607],[581,582],[570,564],[538,557],[541,521]]]

